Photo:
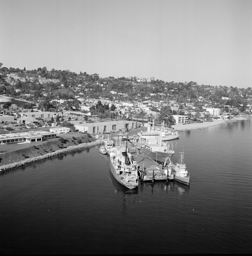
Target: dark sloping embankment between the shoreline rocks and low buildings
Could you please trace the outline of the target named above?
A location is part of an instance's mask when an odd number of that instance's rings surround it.
[[[70,146],[96,141],[95,138],[88,137],[86,134],[74,132],[60,134],[57,136],[59,137],[56,139],[38,143],[1,146],[0,167],[6,164],[27,160],[29,158],[40,157],[48,153],[53,153],[64,148],[68,148]]]

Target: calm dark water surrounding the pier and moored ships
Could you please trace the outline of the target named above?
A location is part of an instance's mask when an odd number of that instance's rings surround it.
[[[98,146],[0,175],[0,253],[251,253],[251,119],[180,134],[190,187],[128,190]]]

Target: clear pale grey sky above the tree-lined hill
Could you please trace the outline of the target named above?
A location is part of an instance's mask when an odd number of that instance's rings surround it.
[[[0,0],[0,62],[252,87],[251,0]]]

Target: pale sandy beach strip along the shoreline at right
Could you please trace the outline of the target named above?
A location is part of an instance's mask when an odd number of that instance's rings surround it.
[[[196,130],[196,129],[203,129],[215,125],[219,125],[226,122],[235,122],[238,120],[244,120],[247,118],[244,117],[234,117],[233,119],[224,119],[224,120],[214,120],[213,122],[204,122],[204,123],[189,123],[189,124],[173,124],[171,127],[173,127],[175,130],[178,131],[186,131],[186,130]]]

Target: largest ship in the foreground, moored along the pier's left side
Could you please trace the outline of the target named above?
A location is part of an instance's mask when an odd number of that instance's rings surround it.
[[[115,142],[110,152],[110,170],[120,184],[134,189],[139,183],[138,164],[132,158],[127,143],[127,140]]]

